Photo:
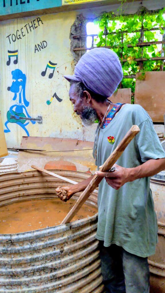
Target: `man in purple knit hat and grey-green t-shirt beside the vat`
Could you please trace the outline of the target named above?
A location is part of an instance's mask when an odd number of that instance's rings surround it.
[[[165,152],[153,123],[140,105],[112,104],[110,97],[123,73],[115,52],[95,48],[84,54],[70,81],[74,111],[86,125],[99,120],[93,155],[101,166],[132,125],[140,132],[130,142],[115,168],[97,171],[98,227],[103,283],[106,292],[149,293],[147,257],[155,253],[157,222],[149,188],[150,176],[164,170]],[[84,190],[93,176],[65,186],[68,199]],[[57,192],[60,188],[57,189]]]

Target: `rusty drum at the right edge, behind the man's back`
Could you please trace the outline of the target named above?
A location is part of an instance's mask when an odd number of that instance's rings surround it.
[[[149,257],[151,272],[150,292],[165,293],[165,171],[150,181],[158,221],[158,244],[156,253]]]

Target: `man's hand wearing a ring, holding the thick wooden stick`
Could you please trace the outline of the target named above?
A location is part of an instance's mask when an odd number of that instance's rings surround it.
[[[95,174],[99,177],[105,177],[106,182],[114,189],[118,190],[126,182],[129,182],[129,168],[123,168],[115,164],[114,172],[101,172],[97,171]]]

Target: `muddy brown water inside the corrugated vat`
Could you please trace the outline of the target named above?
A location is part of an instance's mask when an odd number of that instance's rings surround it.
[[[30,200],[0,207],[0,234],[14,234],[60,225],[75,200],[62,202],[58,198]],[[72,222],[91,217],[95,207],[84,204]]]

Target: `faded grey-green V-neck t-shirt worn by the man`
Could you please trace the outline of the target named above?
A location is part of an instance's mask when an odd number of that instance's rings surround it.
[[[140,105],[126,104],[105,129],[100,129],[97,166],[106,161],[132,125],[138,125],[140,132],[116,162],[119,166],[134,168],[149,159],[165,157],[147,112]],[[114,137],[113,144],[108,141],[109,136]],[[150,177],[144,177],[115,190],[102,179],[98,193],[96,238],[103,240],[104,246],[117,244],[141,257],[155,253],[157,221],[149,182]]]

